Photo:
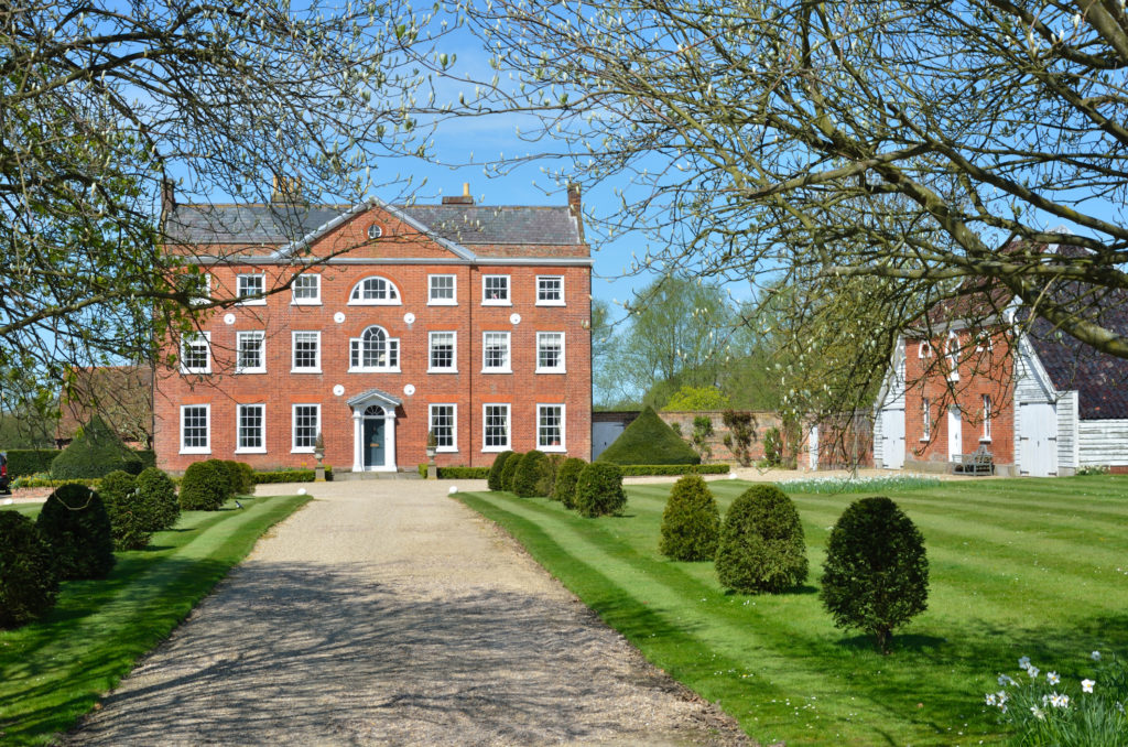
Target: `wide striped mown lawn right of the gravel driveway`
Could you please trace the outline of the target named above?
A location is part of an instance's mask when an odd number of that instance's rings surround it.
[[[748,487],[711,482],[722,512]],[[628,486],[625,515],[583,519],[546,499],[458,498],[509,530],[646,657],[764,744],[978,745],[984,705],[1030,656],[1063,678],[1094,650],[1128,656],[1128,478],[946,482],[890,492],[925,536],[928,610],[882,657],[834,627],[818,597],[823,546],[860,494],[793,494],[811,561],[779,596],[725,594],[712,563],[658,554],[670,485]],[[1026,675],[1022,675],[1025,677]]]

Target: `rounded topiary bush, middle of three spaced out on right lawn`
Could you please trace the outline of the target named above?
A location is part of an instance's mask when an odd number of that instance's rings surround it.
[[[749,487],[729,507],[716,547],[721,586],[742,594],[778,592],[807,580],[799,511],[775,485]]]

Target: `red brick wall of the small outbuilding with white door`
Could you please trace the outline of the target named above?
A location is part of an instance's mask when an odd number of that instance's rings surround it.
[[[1014,464],[1014,363],[1010,337],[1002,329],[993,331],[989,339],[957,331],[931,344],[907,339],[905,380],[907,459],[949,462],[953,448],[950,424],[958,412],[959,454],[971,454],[982,445],[996,465]],[[989,398],[989,418],[985,418],[985,397]],[[931,420],[927,429],[926,398]],[[985,420],[989,421],[989,433],[985,432]]]

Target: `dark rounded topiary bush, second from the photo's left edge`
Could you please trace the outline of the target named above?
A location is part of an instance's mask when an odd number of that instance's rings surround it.
[[[114,536],[102,498],[86,485],[55,489],[35,525],[55,554],[59,578],[100,579],[114,566]]]

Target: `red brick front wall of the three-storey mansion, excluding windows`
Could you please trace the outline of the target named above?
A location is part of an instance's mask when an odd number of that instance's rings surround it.
[[[364,232],[373,221],[381,225],[384,236],[368,240]],[[267,243],[253,253],[244,251],[232,257],[232,246],[243,248],[248,243],[232,236],[226,237],[222,246],[218,246],[219,240],[215,244],[211,251],[197,245],[195,253],[228,257],[202,267],[211,275],[211,295],[217,299],[237,296],[239,274],[263,273],[266,285],[275,288],[298,269],[292,262],[267,257],[267,251],[276,249],[277,245]],[[426,462],[432,404],[456,407],[455,446],[440,449],[435,458],[439,465],[493,463],[495,451],[502,449],[484,446],[486,404],[509,405],[509,446],[518,451],[538,447],[538,406],[563,405],[563,443],[539,446],[546,451],[589,458],[591,282],[587,246],[579,240],[567,246],[506,245],[508,256],[503,258],[474,249],[470,246],[461,254],[453,253],[449,245],[420,232],[380,206],[359,212],[317,237],[309,246],[310,255],[335,257],[308,271],[320,278],[319,304],[294,304],[291,291],[281,290],[261,305],[218,309],[201,326],[210,335],[212,372],[183,374],[168,369],[158,372],[155,449],[160,466],[183,471],[199,459],[221,458],[247,462],[256,468],[311,467],[316,463],[311,450],[293,448],[294,405],[320,406],[325,464],[337,471],[352,469],[356,463],[361,432],[356,419],[362,419],[369,404],[394,410],[394,418],[382,427],[382,442],[385,448],[394,449],[386,466],[399,469],[414,469]],[[479,262],[487,256],[490,261]],[[566,261],[570,257],[573,261]],[[440,274],[456,279],[455,305],[430,302],[429,275]],[[487,274],[509,276],[510,305],[483,304],[483,275]],[[398,302],[350,304],[354,287],[372,276],[391,283]],[[562,305],[538,304],[538,276],[563,280]],[[398,339],[398,371],[350,371],[350,341],[371,325]],[[236,372],[239,332],[264,334],[263,372]],[[293,369],[294,332],[319,333],[318,372]],[[453,371],[429,372],[431,332],[455,333]],[[483,371],[487,332],[509,333],[512,372]],[[563,333],[563,372],[537,372],[537,333]],[[174,345],[171,350],[176,350],[175,344],[169,342]],[[349,404],[350,399],[372,390],[379,392],[373,395],[376,398],[360,405]],[[398,401],[394,407],[389,404],[393,401]],[[253,452],[240,452],[238,406],[258,404],[264,406],[265,443]],[[206,405],[206,454],[185,452],[202,450],[184,448],[182,416],[188,405]]]

